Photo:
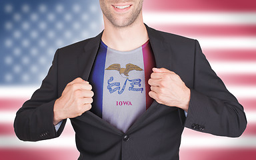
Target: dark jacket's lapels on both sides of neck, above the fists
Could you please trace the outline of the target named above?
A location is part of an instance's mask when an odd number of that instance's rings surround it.
[[[155,56],[156,65],[158,68],[164,67],[171,70],[171,47],[166,42],[165,37],[160,31],[156,31],[151,27],[147,28],[149,35],[149,41]],[[88,80],[91,68],[95,61],[99,45],[101,42],[102,33],[99,33],[96,37],[88,39],[84,47],[84,52],[78,57],[79,76],[83,79]]]

